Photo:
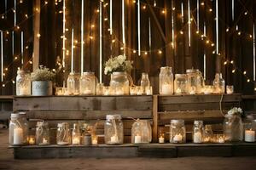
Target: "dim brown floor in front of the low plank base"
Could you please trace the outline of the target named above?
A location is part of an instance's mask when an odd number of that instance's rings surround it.
[[[15,160],[8,149],[8,130],[0,129],[0,169],[4,170],[71,170],[71,169],[189,169],[189,170],[239,170],[255,169],[255,157],[184,157],[184,158],[131,158],[131,159],[45,159]]]

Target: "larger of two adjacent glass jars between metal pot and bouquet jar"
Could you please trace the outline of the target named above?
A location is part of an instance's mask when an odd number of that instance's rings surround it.
[[[97,81],[94,72],[84,72],[80,78],[80,94],[95,95],[96,82]]]

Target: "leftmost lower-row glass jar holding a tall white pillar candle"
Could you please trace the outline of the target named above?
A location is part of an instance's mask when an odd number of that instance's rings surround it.
[[[23,145],[27,143],[26,126],[20,114],[11,114],[9,122],[9,144]]]

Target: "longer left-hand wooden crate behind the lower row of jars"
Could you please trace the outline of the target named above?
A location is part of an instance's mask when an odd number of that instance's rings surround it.
[[[131,143],[133,119],[153,119],[153,96],[51,96],[15,97],[14,111],[27,111],[30,127],[34,128],[38,119],[49,122],[51,143],[55,144],[55,128],[58,122],[94,124],[98,122],[96,133],[104,133],[105,117],[119,114],[124,122],[125,143]],[[133,119],[132,119],[133,118]],[[100,138],[103,142],[103,138]]]

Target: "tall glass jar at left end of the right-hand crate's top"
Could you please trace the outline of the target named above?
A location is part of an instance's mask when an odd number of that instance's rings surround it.
[[[159,75],[159,93],[161,95],[173,94],[173,74],[172,67],[161,67]]]

